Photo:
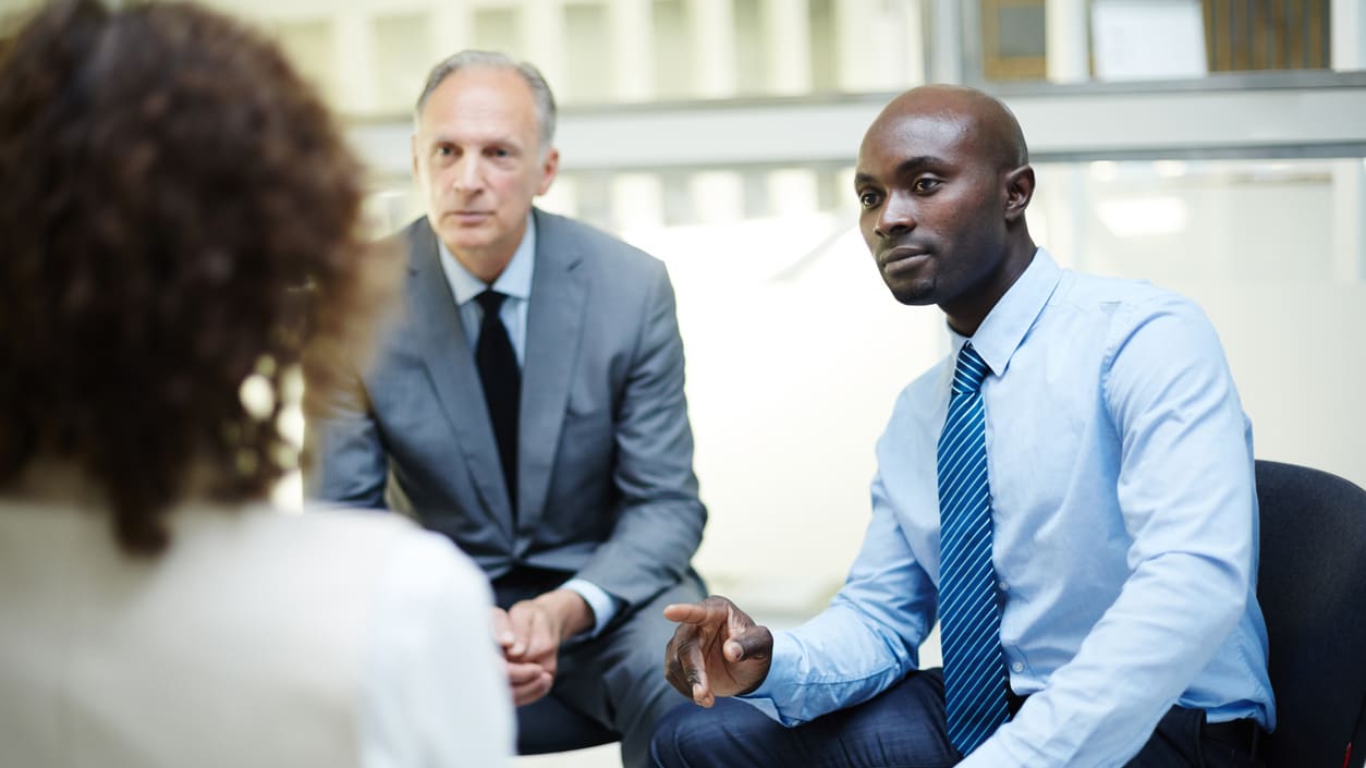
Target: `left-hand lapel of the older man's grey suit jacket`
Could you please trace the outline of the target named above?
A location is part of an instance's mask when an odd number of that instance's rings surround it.
[[[484,388],[474,368],[474,353],[464,339],[460,313],[441,271],[436,235],[426,219],[408,228],[408,303],[419,354],[436,389],[437,400],[455,436],[456,450],[470,467],[470,477],[484,507],[512,540],[512,508],[503,484],[497,441],[489,425]],[[523,395],[525,398],[526,395]],[[525,422],[523,422],[525,424]]]

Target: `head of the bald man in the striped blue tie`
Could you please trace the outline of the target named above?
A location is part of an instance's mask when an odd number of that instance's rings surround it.
[[[1034,169],[1019,123],[979,90],[933,85],[873,120],[854,172],[859,230],[892,295],[971,336],[1034,257]]]

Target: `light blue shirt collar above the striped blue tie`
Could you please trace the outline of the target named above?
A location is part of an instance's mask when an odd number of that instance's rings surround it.
[[[996,302],[982,324],[977,327],[977,333],[973,333],[971,338],[973,348],[982,355],[986,365],[992,366],[992,373],[996,376],[1005,373],[1011,357],[1034,325],[1034,320],[1044,312],[1044,306],[1048,305],[1048,299],[1053,295],[1053,288],[1057,287],[1061,276],[1063,271],[1053,261],[1053,257],[1044,249],[1035,250],[1030,265],[1024,268],[1015,284],[1005,291],[1005,295]],[[959,350],[968,339],[952,328],[948,332],[952,339],[953,359],[958,359]]]

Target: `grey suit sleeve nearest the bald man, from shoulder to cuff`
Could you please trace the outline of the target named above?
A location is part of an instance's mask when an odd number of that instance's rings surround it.
[[[676,584],[702,541],[706,508],[693,473],[683,394],[683,339],[673,287],[660,265],[616,413],[613,482],[622,508],[607,543],[579,570],[627,604]]]

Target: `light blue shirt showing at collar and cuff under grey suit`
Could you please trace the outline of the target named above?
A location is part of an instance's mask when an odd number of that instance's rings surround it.
[[[484,323],[484,309],[475,297],[488,290],[494,290],[507,295],[499,307],[499,318],[508,329],[508,340],[516,353],[519,366],[526,366],[526,313],[531,303],[531,276],[535,272],[535,220],[529,213],[526,217],[526,235],[518,245],[512,260],[503,268],[503,273],[489,286],[479,280],[437,239],[437,249],[441,251],[441,271],[451,284],[451,294],[455,297],[455,306],[460,312],[460,324],[464,327],[464,339],[470,344],[470,354],[479,339],[479,325]],[[564,589],[571,589],[593,608],[593,630],[589,637],[596,637],[602,627],[616,615],[619,605],[601,586],[574,578],[567,581]]]

